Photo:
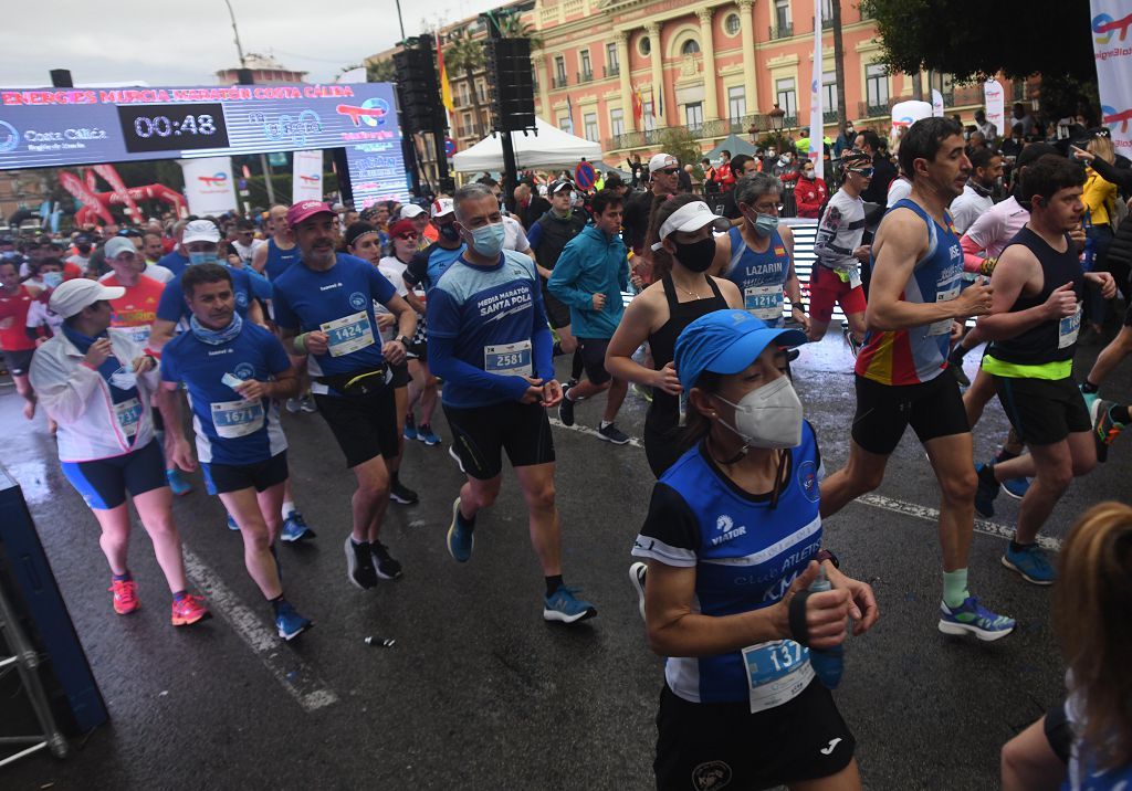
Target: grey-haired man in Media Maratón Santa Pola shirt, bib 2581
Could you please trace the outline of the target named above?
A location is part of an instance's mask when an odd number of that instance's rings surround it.
[[[444,413],[468,482],[452,504],[448,552],[466,562],[477,514],[499,495],[503,450],[515,467],[531,543],[546,578],[542,617],[574,624],[598,614],[561,571],[555,446],[546,409],[558,405],[552,341],[534,265],[503,249],[499,203],[482,184],[456,191],[468,249],[429,292],[430,360],[444,379]]]

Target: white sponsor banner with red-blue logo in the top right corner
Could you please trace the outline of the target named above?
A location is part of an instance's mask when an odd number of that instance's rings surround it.
[[[1132,157],[1132,8],[1127,0],[1091,0],[1090,8],[1100,122],[1112,132],[1116,153]]]

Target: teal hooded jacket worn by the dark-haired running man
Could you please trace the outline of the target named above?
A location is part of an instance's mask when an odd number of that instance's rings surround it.
[[[620,324],[628,291],[629,267],[620,234],[606,235],[586,225],[563,248],[547,289],[569,306],[571,333],[578,338],[611,338]],[[604,294],[606,306],[593,309],[593,294]]]

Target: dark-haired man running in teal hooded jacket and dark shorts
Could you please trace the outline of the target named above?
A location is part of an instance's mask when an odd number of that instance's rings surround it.
[[[578,342],[588,379],[563,390],[558,419],[574,424],[574,404],[606,393],[606,412],[598,437],[614,445],[629,438],[615,424],[628,381],[606,370],[606,350],[625,312],[621,292],[629,287],[629,268],[621,229],[620,196],[601,191],[590,203],[593,223],[566,242],[547,281],[547,289],[569,307],[569,326]]]

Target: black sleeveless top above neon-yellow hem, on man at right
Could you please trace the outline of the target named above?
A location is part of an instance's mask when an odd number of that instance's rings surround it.
[[[1035,255],[1041,265],[1043,283],[1041,291],[1032,296],[1019,294],[1010,312],[1017,313],[1045,303],[1049,294],[1069,282],[1073,283],[1073,291],[1077,292],[1078,312],[1063,319],[1043,321],[1017,337],[995,341],[990,344],[989,353],[996,360],[1022,366],[1072,360],[1077,347],[1077,330],[1081,326],[1081,295],[1084,285],[1077,244],[1066,235],[1065,250],[1058,252],[1028,227],[1019,231],[1006,248],[1012,244],[1021,244]]]

